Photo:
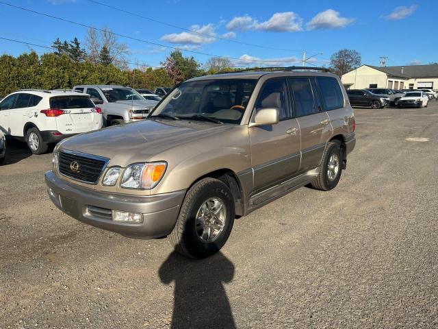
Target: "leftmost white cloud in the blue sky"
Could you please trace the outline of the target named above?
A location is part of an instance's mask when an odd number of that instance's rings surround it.
[[[179,45],[204,45],[216,40],[214,24],[192,25],[191,32],[165,34],[161,40]]]

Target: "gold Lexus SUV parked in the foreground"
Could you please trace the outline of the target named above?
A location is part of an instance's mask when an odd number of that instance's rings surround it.
[[[355,147],[339,78],[289,67],[196,77],[144,121],[58,144],[45,174],[66,214],[124,236],[218,252],[234,219],[311,184],[329,191]]]

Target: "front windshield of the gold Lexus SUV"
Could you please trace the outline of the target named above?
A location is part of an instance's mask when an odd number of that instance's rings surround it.
[[[179,119],[200,116],[222,123],[239,124],[257,80],[220,79],[184,82],[154,110]]]

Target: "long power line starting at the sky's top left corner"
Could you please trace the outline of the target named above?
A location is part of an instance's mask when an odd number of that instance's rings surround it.
[[[155,46],[158,46],[158,47],[165,47],[165,48],[169,48],[169,49],[185,51],[185,52],[188,52],[188,53],[196,53],[198,55],[204,55],[204,56],[210,56],[210,57],[227,58],[229,60],[242,60],[244,62],[257,62],[257,63],[259,63],[259,62],[278,62],[278,60],[248,60],[248,59],[235,58],[235,57],[229,57],[229,56],[217,56],[217,55],[214,55],[214,54],[211,54],[211,53],[203,53],[201,51],[194,51],[194,50],[188,50],[188,49],[180,49],[178,47],[161,45],[161,44],[159,44],[157,42],[151,42],[151,41],[143,40],[143,39],[140,39],[140,38],[133,38],[132,36],[125,36],[124,34],[118,34],[118,33],[115,33],[115,32],[104,30],[104,29],[99,29],[97,27],[92,27],[90,25],[86,25],[86,24],[83,24],[83,23],[77,23],[75,21],[70,21],[68,19],[62,19],[61,17],[53,16],[53,15],[50,15],[50,14],[45,14],[44,12],[37,12],[36,10],[31,10],[31,9],[23,8],[23,7],[20,7],[18,5],[12,5],[11,3],[6,3],[6,2],[3,2],[3,1],[0,1],[0,3],[3,4],[3,5],[8,5],[8,6],[12,7],[12,8],[24,10],[24,11],[27,11],[27,12],[32,12],[34,14],[38,14],[38,15],[41,15],[41,16],[49,17],[51,19],[56,19],[58,21],[64,21],[64,22],[71,23],[71,24],[74,24],[74,25],[79,25],[81,27],[87,27],[89,29],[94,29],[96,31],[109,33],[109,34],[112,34],[114,36],[120,36],[122,38],[127,38],[127,39],[135,40],[135,41],[138,41],[138,42],[144,42],[144,43],[147,43],[149,45],[155,45]]]

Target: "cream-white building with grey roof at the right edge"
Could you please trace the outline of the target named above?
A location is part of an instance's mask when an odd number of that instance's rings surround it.
[[[342,75],[346,88],[438,89],[438,64],[407,66],[361,65]]]

